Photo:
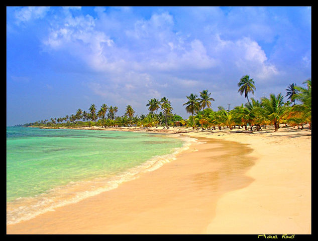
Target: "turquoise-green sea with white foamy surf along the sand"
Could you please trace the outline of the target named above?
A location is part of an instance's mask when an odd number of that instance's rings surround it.
[[[7,127],[7,224],[116,188],[194,141],[171,135]]]

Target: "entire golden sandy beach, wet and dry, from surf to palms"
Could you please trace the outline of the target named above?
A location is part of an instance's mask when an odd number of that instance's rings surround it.
[[[105,128],[194,137],[118,188],[7,225],[7,233],[311,233],[311,130]]]

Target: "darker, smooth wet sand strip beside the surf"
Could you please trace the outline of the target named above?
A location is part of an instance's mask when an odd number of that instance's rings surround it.
[[[247,144],[200,138],[177,159],[118,188],[7,226],[7,233],[204,233],[218,199],[246,187]]]

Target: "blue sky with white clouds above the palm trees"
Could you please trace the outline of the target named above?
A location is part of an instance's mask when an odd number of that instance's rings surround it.
[[[188,118],[206,89],[233,109],[245,75],[249,99],[311,79],[311,7],[7,6],[7,126],[162,97]]]

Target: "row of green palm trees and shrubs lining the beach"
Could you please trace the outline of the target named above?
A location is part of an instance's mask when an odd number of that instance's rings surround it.
[[[306,87],[290,84],[286,89],[287,101],[284,102],[281,93],[270,94],[269,98],[260,100],[248,98],[248,94],[254,94],[255,82],[248,75],[243,76],[238,83],[239,93],[247,98],[247,103],[225,110],[222,106],[218,111],[211,109],[211,101],[215,101],[208,90],[199,92],[199,97],[191,93],[186,96],[187,102],[183,104],[187,113],[191,115],[183,119],[177,114],[172,114],[170,101],[163,97],[161,100],[150,99],[146,106],[148,114],[135,115],[131,105],[127,105],[123,116],[116,116],[118,107],[103,104],[96,113],[96,106],[90,105],[88,112],[78,109],[71,116],[51,118],[50,121],[41,120],[20,126],[49,126],[49,127],[158,127],[169,129],[171,126],[192,127],[202,130],[222,130],[222,128],[245,128],[245,130],[260,131],[268,125],[273,125],[278,131],[280,124],[285,126],[297,126],[303,129],[303,125],[309,123],[311,129],[311,80],[303,82]],[[299,102],[296,104],[296,100]],[[158,113],[158,110],[161,110]],[[107,113],[108,112],[108,113]]]

